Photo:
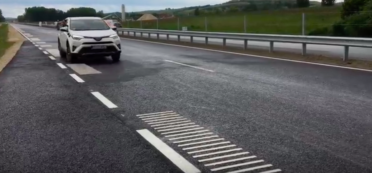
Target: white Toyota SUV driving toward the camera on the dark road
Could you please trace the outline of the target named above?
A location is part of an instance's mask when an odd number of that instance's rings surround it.
[[[59,28],[58,50],[73,63],[79,56],[111,56],[120,59],[120,38],[100,17],[67,17]]]

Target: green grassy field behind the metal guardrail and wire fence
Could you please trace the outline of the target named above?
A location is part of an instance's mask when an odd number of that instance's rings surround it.
[[[305,13],[305,33],[311,30],[330,26],[340,19],[341,5],[331,7],[307,7],[267,11],[254,11],[225,15],[189,16],[179,18],[179,29],[187,26],[194,31],[221,31],[248,33],[274,33],[274,34],[302,34],[302,13]],[[207,26],[205,29],[205,18]],[[159,29],[178,29],[177,17],[159,19]],[[128,21],[122,23],[123,27],[156,29],[156,20]]]

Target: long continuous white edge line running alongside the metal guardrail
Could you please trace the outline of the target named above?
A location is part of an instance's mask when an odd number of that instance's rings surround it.
[[[345,69],[354,69],[354,70],[372,72],[372,70],[370,70],[370,69],[363,69],[363,68],[354,68],[354,67],[331,65],[331,64],[325,64],[325,63],[307,62],[307,61],[300,61],[300,60],[291,60],[291,59],[284,59],[284,58],[277,58],[277,57],[268,57],[268,56],[260,56],[260,55],[245,54],[245,53],[237,53],[237,52],[223,51],[223,50],[213,50],[213,49],[208,49],[208,48],[191,47],[191,46],[185,46],[185,45],[168,44],[168,43],[163,43],[163,42],[145,41],[145,40],[139,40],[139,39],[123,38],[123,37],[120,37],[120,38],[121,39],[135,40],[135,41],[142,41],[142,42],[150,42],[150,43],[155,43],[155,44],[172,45],[172,46],[178,46],[178,47],[194,48],[194,49],[199,49],[199,50],[215,51],[215,52],[220,52],[220,53],[230,53],[230,54],[238,54],[238,55],[243,55],[243,56],[254,56],[254,57],[267,58],[267,59],[284,60],[284,61],[290,61],[290,62],[299,62],[299,63],[307,63],[307,64],[313,64],[313,65],[322,65],[322,66],[330,66],[330,67],[345,68]]]

